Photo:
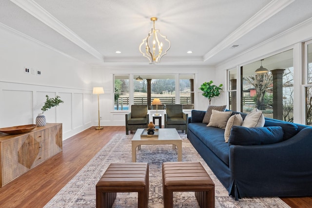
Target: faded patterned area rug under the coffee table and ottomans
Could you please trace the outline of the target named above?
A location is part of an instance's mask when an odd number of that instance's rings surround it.
[[[117,134],[105,145],[78,174],[59,191],[45,208],[95,208],[96,184],[110,163],[131,162],[132,135]],[[216,208],[289,208],[278,197],[244,197],[235,201],[229,196],[215,174],[199,156],[183,133],[182,161],[200,161],[215,183]],[[142,145],[137,150],[137,162],[149,163],[149,208],[163,208],[161,164],[177,161],[177,151],[172,145]],[[137,193],[118,193],[114,208],[137,207]],[[174,208],[198,208],[194,192],[175,192]]]

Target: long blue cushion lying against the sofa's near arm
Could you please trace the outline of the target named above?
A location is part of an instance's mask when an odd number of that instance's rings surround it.
[[[229,145],[265,145],[283,141],[283,128],[280,126],[246,128],[232,127]]]

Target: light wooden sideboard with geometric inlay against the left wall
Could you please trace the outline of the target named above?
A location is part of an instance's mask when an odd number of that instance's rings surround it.
[[[0,132],[0,187],[62,151],[62,124],[47,123],[30,132]]]

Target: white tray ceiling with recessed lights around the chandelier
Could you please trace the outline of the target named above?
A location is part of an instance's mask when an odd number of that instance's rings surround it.
[[[171,41],[160,65],[214,66],[312,18],[311,8],[312,0],[0,0],[0,27],[88,64],[148,65],[138,47],[157,17]]]

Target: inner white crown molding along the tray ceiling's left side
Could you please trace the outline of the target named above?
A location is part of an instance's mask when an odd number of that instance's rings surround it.
[[[60,35],[69,39],[83,50],[96,57],[97,59],[104,61],[103,55],[100,54],[96,49],[91,47],[86,41],[80,38],[76,33],[62,24],[58,19],[48,13],[45,9],[43,9],[38,3],[34,0],[11,0],[13,3],[18,5],[21,9],[25,10],[30,15],[34,16]]]

